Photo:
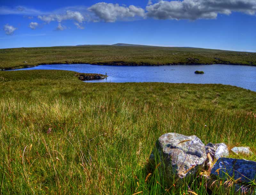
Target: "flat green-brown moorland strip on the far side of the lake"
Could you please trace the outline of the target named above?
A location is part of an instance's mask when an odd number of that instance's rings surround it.
[[[256,65],[256,53],[180,47],[76,46],[0,49],[0,69],[39,64]]]

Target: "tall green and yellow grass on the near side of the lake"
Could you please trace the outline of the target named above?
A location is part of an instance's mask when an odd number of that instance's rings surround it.
[[[0,72],[2,194],[174,194],[147,166],[167,132],[205,144],[241,142],[256,152],[256,92],[216,84],[84,83],[75,74]],[[177,194],[207,195],[201,182]]]

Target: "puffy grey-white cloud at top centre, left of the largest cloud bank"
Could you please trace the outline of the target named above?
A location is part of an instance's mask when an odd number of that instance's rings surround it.
[[[126,7],[101,2],[92,5],[88,10],[105,22],[115,22],[117,19],[133,18],[135,16],[145,17],[145,10],[134,5]]]

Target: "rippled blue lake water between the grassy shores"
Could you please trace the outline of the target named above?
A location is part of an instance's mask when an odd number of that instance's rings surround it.
[[[79,73],[108,74],[107,79],[85,82],[171,82],[216,83],[256,91],[256,66],[173,65],[173,66],[99,66],[89,64],[40,65],[17,70],[70,70]],[[205,74],[195,74],[196,70]]]

